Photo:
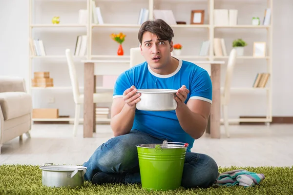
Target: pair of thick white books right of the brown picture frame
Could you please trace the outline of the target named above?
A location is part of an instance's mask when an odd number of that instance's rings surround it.
[[[238,10],[236,9],[215,9],[214,25],[235,26],[238,23]]]

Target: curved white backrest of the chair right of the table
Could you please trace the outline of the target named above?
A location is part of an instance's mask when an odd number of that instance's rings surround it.
[[[234,66],[236,63],[236,49],[232,49],[229,55],[229,60],[227,64],[226,77],[225,77],[225,86],[224,86],[224,104],[228,104],[230,100],[230,88],[231,80],[233,75]]]

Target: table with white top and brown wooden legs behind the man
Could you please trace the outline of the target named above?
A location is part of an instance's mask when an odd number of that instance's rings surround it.
[[[129,60],[82,60],[84,63],[84,137],[93,137],[95,132],[95,104],[93,94],[96,92],[95,76],[120,75],[129,68]],[[221,64],[225,61],[192,61],[195,64],[209,65],[212,81],[212,106],[210,113],[210,137],[220,138],[221,116]],[[115,64],[112,64],[115,63]],[[209,71],[208,71],[209,72]]]

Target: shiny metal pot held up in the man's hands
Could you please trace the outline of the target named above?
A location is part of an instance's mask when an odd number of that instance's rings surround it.
[[[138,89],[141,100],[136,103],[138,110],[169,111],[177,108],[175,100],[177,90],[173,89]]]

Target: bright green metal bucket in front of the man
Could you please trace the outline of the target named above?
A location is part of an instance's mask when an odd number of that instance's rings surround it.
[[[188,143],[139,144],[139,168],[142,187],[148,191],[175,190],[181,186]]]

